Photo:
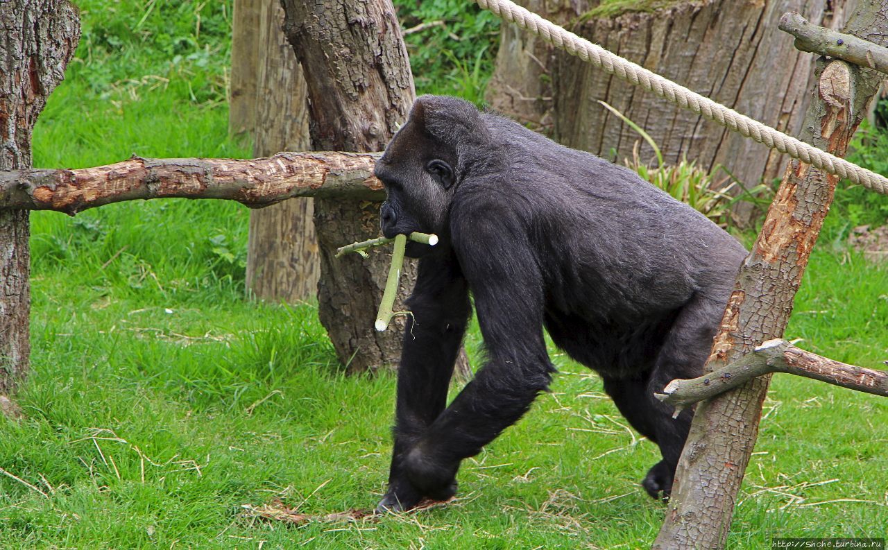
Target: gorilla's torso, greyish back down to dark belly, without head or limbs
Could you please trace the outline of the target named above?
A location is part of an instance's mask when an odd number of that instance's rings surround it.
[[[508,177],[495,185],[530,205],[527,230],[545,281],[546,325],[559,347],[586,364],[611,358],[609,350],[596,351],[607,358],[576,357],[599,340],[622,342],[614,354],[634,347],[650,357],[646,350],[659,345],[694,297],[713,303],[712,326],[718,323],[746,255],[740,242],[630,169],[484,116],[500,140],[500,162],[508,163],[500,167]],[[588,334],[576,334],[581,319]],[[572,332],[559,338],[559,326]]]

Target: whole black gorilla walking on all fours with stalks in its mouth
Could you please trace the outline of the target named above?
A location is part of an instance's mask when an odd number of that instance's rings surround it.
[[[693,413],[654,392],[702,373],[746,250],[630,169],[457,98],[416,99],[377,161],[392,238],[418,257],[400,360],[389,486],[377,509],[456,494],[460,461],[518,421],[555,372],[543,339],[599,373],[662,460],[667,499]],[[447,405],[473,297],[487,360]]]

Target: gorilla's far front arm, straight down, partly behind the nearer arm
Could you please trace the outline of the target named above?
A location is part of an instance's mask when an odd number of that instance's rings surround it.
[[[468,287],[456,263],[437,257],[421,260],[408,308],[412,315],[398,369],[392,468],[379,511],[407,510],[425,496],[447,499],[456,492],[453,486],[436,495],[421,493],[403,468],[405,455],[447,405],[448,383],[471,314]]]

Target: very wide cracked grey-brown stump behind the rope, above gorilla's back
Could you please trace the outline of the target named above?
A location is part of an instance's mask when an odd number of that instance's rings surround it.
[[[796,51],[777,28],[783,12],[814,24],[841,24],[841,8],[856,0],[678,1],[653,12],[588,17],[573,30],[742,114],[797,135],[801,130],[813,57]],[[828,4],[838,6],[828,12]],[[600,10],[600,9],[599,9]],[[596,13],[595,10],[591,15]],[[561,143],[621,162],[638,134],[598,100],[638,123],[667,163],[685,155],[703,169],[719,164],[744,185],[779,177],[780,153],[702,120],[653,94],[560,53],[554,78],[555,135]],[[654,159],[642,142],[641,158]]]

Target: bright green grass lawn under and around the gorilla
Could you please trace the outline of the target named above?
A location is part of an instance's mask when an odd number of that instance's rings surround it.
[[[248,155],[226,136],[229,3],[80,4],[36,166]],[[871,367],[888,358],[888,267],[844,236],[880,200],[841,194],[787,333]],[[248,217],[209,200],[33,214],[33,369],[28,418],[0,420],[0,548],[649,546],[665,508],[638,481],[655,446],[556,350],[551,394],[466,461],[454,503],[375,522],[251,515],[274,499],[312,515],[375,505],[394,378],[345,377],[312,305],[244,299]],[[477,365],[477,329],[467,343]],[[888,536],[886,444],[888,400],[778,375],[730,547]]]

